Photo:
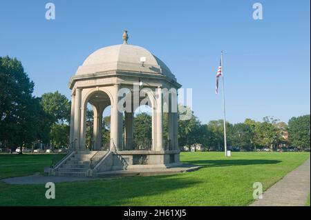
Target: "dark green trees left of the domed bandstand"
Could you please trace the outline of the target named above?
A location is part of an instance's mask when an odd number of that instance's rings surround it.
[[[66,146],[70,102],[59,92],[32,95],[21,62],[0,57],[0,148]]]

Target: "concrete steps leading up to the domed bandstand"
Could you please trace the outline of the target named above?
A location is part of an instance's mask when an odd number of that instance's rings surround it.
[[[78,151],[66,159],[55,171],[57,177],[88,177],[90,159],[97,151]]]

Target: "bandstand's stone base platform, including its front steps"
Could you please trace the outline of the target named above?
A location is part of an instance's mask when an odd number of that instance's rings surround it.
[[[179,150],[126,150],[70,152],[48,170],[56,177],[126,177],[174,174],[198,170],[182,164]]]

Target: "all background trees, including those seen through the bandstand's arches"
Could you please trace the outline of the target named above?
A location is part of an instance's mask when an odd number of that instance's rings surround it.
[[[20,61],[0,57],[0,148],[31,148],[40,144],[68,146],[70,101],[59,92],[34,97],[34,86]],[[109,141],[110,117],[103,120],[102,138],[105,143]],[[164,114],[164,139],[168,137],[167,121],[167,114]],[[91,110],[87,112],[86,123],[86,141],[90,143],[93,136]],[[275,150],[278,146],[310,149],[310,114],[292,117],[288,124],[273,117],[264,117],[263,121],[226,122],[226,128],[227,145],[239,150],[263,147]],[[133,130],[136,142],[150,139],[151,115],[135,115]],[[223,120],[204,124],[192,112],[191,119],[179,121],[178,140],[180,147],[200,143],[208,150],[223,150]]]

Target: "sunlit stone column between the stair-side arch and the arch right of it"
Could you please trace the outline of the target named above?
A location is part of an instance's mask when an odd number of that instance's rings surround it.
[[[113,104],[111,105],[111,150],[122,149],[122,112],[119,112],[117,105],[119,97],[117,92],[119,84],[113,86]]]

